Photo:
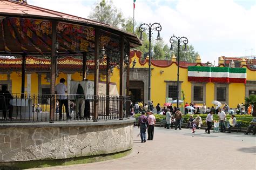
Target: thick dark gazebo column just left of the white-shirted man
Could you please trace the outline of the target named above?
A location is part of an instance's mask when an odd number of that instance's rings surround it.
[[[54,113],[55,113],[55,85],[56,85],[56,43],[57,43],[57,22],[52,21],[52,36],[51,36],[51,101],[50,101],[50,123],[54,122]]]

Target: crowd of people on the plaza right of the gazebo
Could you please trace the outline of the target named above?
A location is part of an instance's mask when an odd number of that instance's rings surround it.
[[[192,106],[194,109],[187,109],[187,106]],[[135,113],[142,113],[140,115],[138,120],[138,125],[140,128],[140,137],[142,139],[142,142],[146,141],[146,129],[148,131],[149,138],[147,140],[153,140],[153,130],[154,124],[156,124],[156,118],[153,115],[154,107],[153,107],[153,101],[150,103],[150,106],[147,106],[145,104],[143,106],[142,101],[136,102],[134,106],[131,104],[131,112],[132,115]],[[196,127],[200,130],[201,125],[203,125],[203,120],[198,115],[199,113],[207,114],[206,117],[206,124],[207,128],[205,129],[205,133],[210,134],[210,130],[213,126],[214,120],[213,120],[213,114],[218,114],[219,120],[219,126],[220,126],[220,132],[226,132],[231,133],[231,127],[237,126],[237,119],[235,117],[235,114],[252,114],[253,107],[252,105],[249,105],[247,107],[247,112],[244,111],[245,106],[244,104],[238,104],[237,108],[233,110],[233,108],[230,108],[227,104],[224,104],[223,107],[220,106],[211,106],[206,107],[205,104],[203,106],[197,106],[196,104],[191,103],[188,105],[186,103],[185,105],[185,112],[184,114],[190,114],[190,118],[187,120],[187,126],[186,128],[191,128],[192,133],[196,133]],[[157,114],[163,114],[166,115],[166,124],[165,128],[170,129],[175,128],[177,130],[181,130],[181,120],[183,118],[183,113],[181,113],[180,108],[177,108],[176,106],[172,107],[172,105],[169,105],[167,107],[161,108],[160,104],[158,103],[156,106],[156,112]],[[197,115],[196,115],[197,114]],[[231,114],[231,118],[227,121],[226,115]],[[154,118],[152,118],[154,117]],[[227,125],[227,126],[226,126]],[[247,129],[247,132],[245,134],[250,133],[251,130],[253,131],[253,135],[255,134],[255,125],[256,125],[256,118],[254,118],[250,126]],[[135,124],[134,124],[135,126]],[[227,129],[226,129],[227,127]]]

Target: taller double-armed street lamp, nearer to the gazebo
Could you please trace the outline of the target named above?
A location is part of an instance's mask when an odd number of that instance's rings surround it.
[[[142,24],[139,26],[139,32],[140,32],[140,40],[142,40],[142,33],[144,31],[148,31],[147,35],[149,35],[149,94],[148,94],[148,103],[150,106],[150,101],[151,101],[151,38],[152,38],[152,31],[156,30],[158,31],[157,33],[157,39],[156,40],[160,40],[160,31],[161,31],[162,27],[159,23],[153,23],[151,25],[150,24]]]

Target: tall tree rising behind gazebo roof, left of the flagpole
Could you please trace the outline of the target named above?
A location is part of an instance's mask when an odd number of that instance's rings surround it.
[[[89,15],[89,19],[110,24],[116,28],[119,28],[125,22],[123,13],[117,10],[112,1],[105,0],[102,0],[99,4],[96,4],[95,8],[93,8]]]

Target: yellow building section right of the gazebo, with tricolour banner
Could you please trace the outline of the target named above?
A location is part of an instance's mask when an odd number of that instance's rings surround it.
[[[147,101],[147,91],[148,91],[148,63],[149,59],[142,59],[142,53],[140,51],[130,52],[131,61],[134,59],[137,61],[134,69],[130,69],[130,94],[133,96],[133,100],[142,99],[144,102]],[[160,103],[163,106],[169,100],[175,100],[177,98],[177,62],[176,57],[172,56],[171,60],[151,60],[151,100],[153,100],[154,105]],[[202,77],[196,79],[188,78],[188,68],[193,69],[193,66],[203,67],[211,69],[210,65],[202,64],[201,59],[198,56],[196,63],[180,62],[179,69],[179,99],[183,99],[183,93],[185,96],[185,101],[188,104],[193,102],[196,104],[206,104],[206,106],[213,106],[213,100],[219,100],[222,104],[228,104],[230,107],[237,107],[238,103],[244,103],[245,96],[249,94],[256,93],[256,70],[251,69],[246,65],[246,61],[241,61],[241,68],[229,68],[225,67],[223,57],[219,58],[219,66],[212,67],[219,70],[220,67],[224,67],[227,70],[229,77],[227,79],[216,78],[214,73],[211,73],[211,80],[205,80],[201,82]],[[132,62],[130,67],[132,67]],[[231,67],[234,67],[231,65]],[[198,69],[196,67],[196,69]],[[211,69],[214,70],[214,69]],[[238,73],[231,73],[242,71],[242,75]],[[198,74],[200,72],[198,71]],[[226,73],[224,73],[226,74]],[[196,72],[197,75],[197,72]],[[220,75],[220,77],[223,75]],[[246,77],[246,78],[245,78]],[[240,78],[237,82],[237,78]],[[229,79],[229,80],[228,80]],[[246,81],[246,83],[245,83]]]

